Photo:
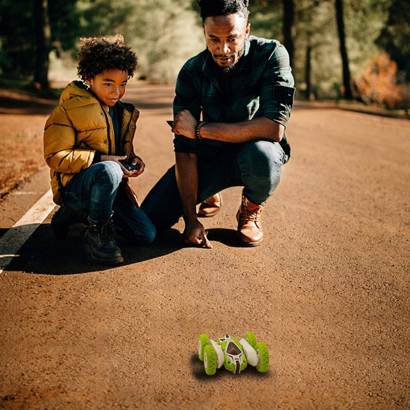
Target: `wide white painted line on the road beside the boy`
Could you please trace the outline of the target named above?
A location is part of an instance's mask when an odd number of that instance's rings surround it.
[[[0,238],[0,274],[54,207],[50,189]]]

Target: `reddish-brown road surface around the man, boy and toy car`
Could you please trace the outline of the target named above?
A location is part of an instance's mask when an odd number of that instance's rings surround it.
[[[141,199],[173,162],[172,97],[126,94],[141,111]],[[41,135],[47,110],[2,111],[2,133],[14,118],[15,132]],[[240,188],[204,221],[214,249],[182,248],[180,221],[150,247],[122,245],[113,269],[85,259],[80,228],[56,241],[50,215],[0,274],[0,408],[408,408],[409,125],[296,104],[255,249],[235,240]],[[40,137],[31,149],[41,163]],[[2,232],[48,188],[42,168],[6,195]],[[249,331],[268,344],[269,371],[206,376],[198,335]]]

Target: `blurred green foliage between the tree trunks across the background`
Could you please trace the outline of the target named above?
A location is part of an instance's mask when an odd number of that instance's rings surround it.
[[[359,78],[383,48],[398,75],[410,75],[410,4],[407,0],[343,0],[350,71]],[[342,83],[333,0],[295,1],[293,71],[299,96],[309,78],[318,97],[336,98]],[[250,1],[251,34],[283,42],[283,0]],[[196,0],[49,0],[52,64],[75,72],[81,36],[121,33],[138,55],[136,76],[173,83],[182,64],[205,46]],[[0,3],[0,74],[30,78],[36,38],[31,0]],[[306,56],[310,71],[306,73]],[[309,74],[309,77],[307,76]]]

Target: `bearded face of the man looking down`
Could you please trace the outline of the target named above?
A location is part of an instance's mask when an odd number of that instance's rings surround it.
[[[242,56],[250,27],[239,13],[205,19],[203,32],[208,50],[223,71],[232,69]]]

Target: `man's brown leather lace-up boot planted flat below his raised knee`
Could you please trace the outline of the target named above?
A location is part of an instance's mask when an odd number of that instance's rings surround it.
[[[262,205],[252,203],[242,191],[242,202],[236,214],[238,221],[236,234],[245,246],[254,247],[263,240],[260,220],[262,209]]]

